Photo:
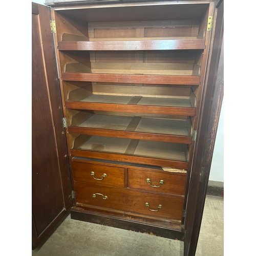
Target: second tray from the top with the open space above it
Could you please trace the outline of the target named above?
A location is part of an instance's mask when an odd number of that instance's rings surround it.
[[[200,85],[202,50],[62,51],[63,81]],[[64,61],[65,59],[65,61]]]

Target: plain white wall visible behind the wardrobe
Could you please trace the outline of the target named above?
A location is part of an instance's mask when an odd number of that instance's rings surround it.
[[[33,1],[37,4],[44,4],[45,0],[35,0]],[[224,101],[223,101],[224,103]],[[220,121],[217,131],[217,137],[214,148],[214,155],[212,157],[210,177],[209,180],[224,182],[224,113],[223,104],[221,109]]]

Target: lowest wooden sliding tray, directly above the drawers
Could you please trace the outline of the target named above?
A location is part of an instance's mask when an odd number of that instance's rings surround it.
[[[72,156],[188,168],[185,144],[79,135]]]

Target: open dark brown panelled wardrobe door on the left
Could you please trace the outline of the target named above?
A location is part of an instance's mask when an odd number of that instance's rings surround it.
[[[51,10],[32,3],[32,249],[72,205]]]

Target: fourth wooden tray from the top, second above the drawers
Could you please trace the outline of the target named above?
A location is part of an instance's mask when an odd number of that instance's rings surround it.
[[[88,118],[69,133],[191,144],[186,120],[79,113]]]

